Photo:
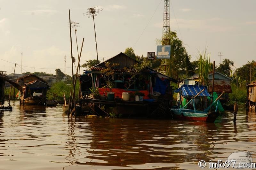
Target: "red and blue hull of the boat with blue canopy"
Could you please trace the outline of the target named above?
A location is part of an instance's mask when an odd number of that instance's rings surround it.
[[[179,120],[187,120],[187,121],[201,121],[201,122],[214,122],[216,118],[219,116],[218,112],[203,112],[196,111],[190,109],[171,109],[173,118]]]

